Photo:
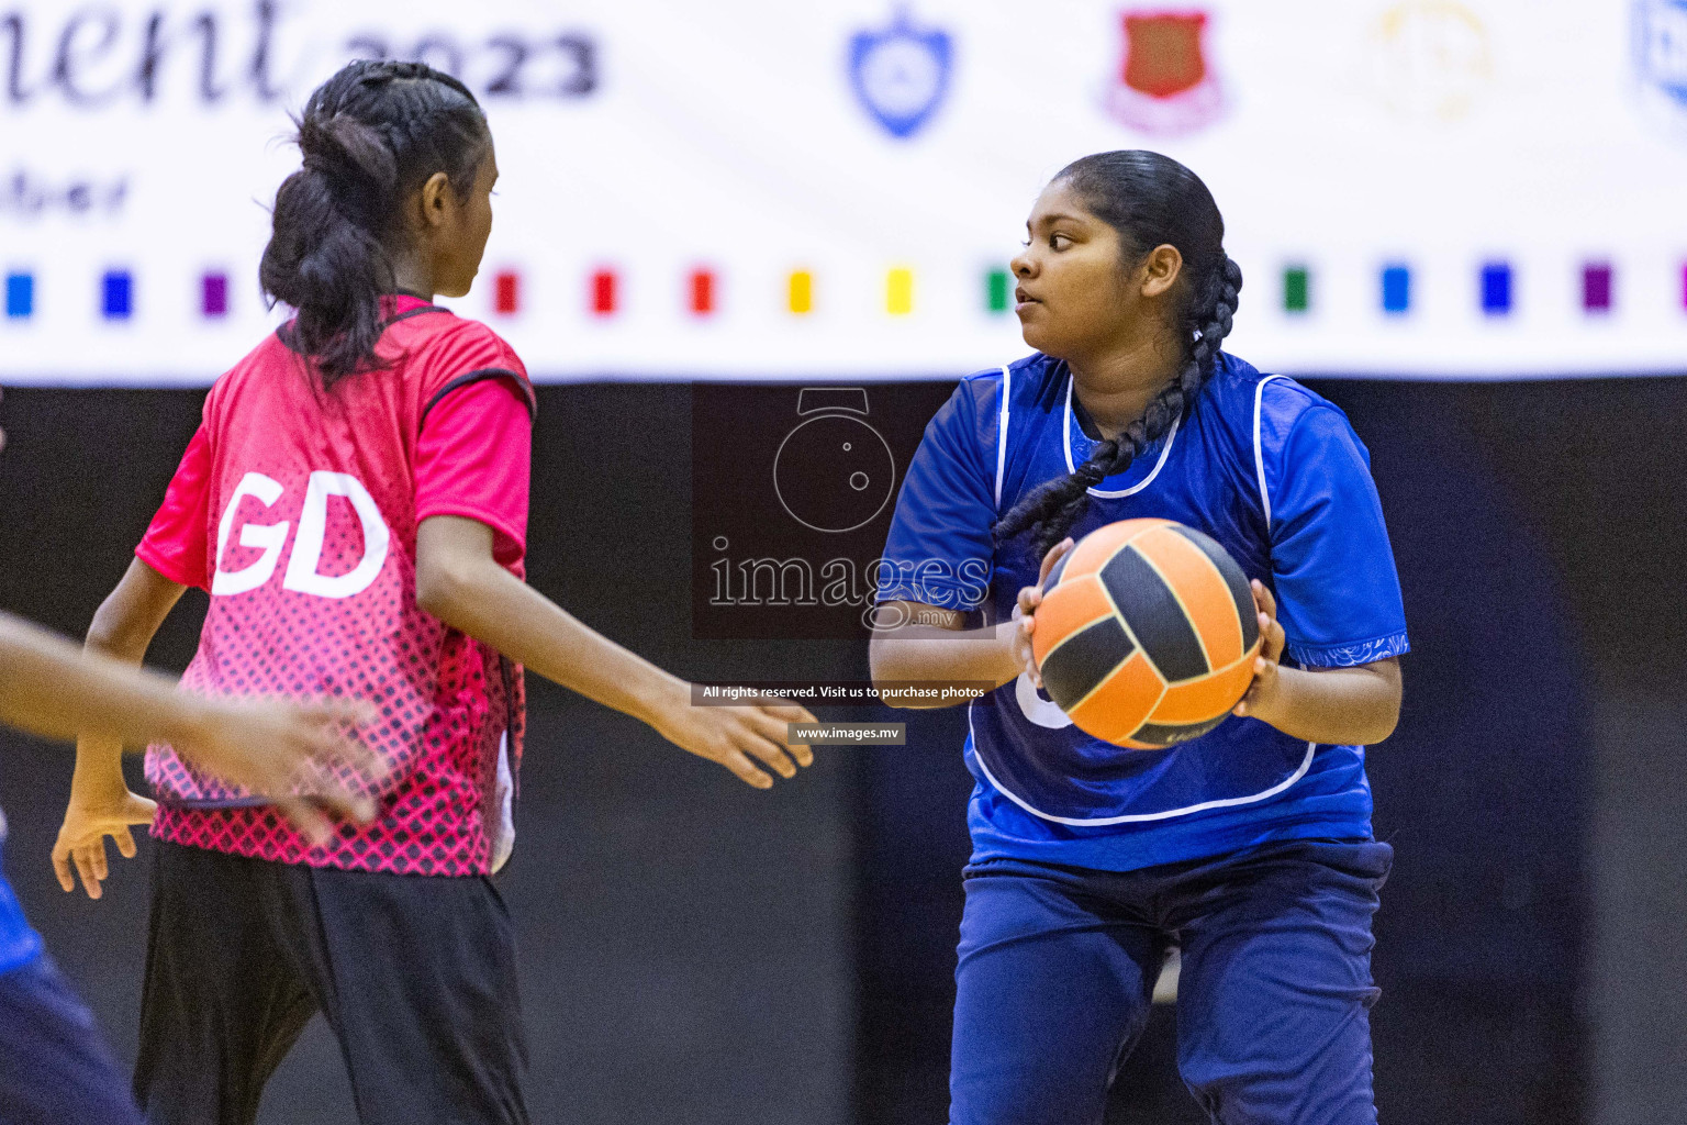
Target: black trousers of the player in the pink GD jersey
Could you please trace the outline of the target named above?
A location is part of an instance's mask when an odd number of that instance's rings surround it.
[[[150,1125],[251,1125],[315,1012],[363,1125],[526,1125],[515,939],[489,879],[159,842],[135,1064]]]

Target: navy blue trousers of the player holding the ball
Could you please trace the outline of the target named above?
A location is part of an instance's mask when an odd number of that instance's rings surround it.
[[[967,869],[951,1125],[1098,1125],[1183,953],[1178,1068],[1220,1125],[1375,1125],[1372,914],[1393,850],[1306,840],[1102,872]]]

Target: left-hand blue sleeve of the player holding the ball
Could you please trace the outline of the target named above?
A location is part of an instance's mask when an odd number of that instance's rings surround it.
[[[990,589],[995,525],[994,425],[978,425],[990,385],[967,379],[926,425],[879,563],[881,602],[977,609]],[[989,417],[989,415],[987,415]],[[992,418],[994,422],[994,418]]]

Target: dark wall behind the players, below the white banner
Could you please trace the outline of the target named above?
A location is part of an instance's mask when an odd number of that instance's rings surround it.
[[[1370,757],[1382,1113],[1674,1122],[1687,1103],[1687,381],[1318,383],[1373,455],[1414,653]],[[690,391],[542,391],[531,580],[693,676],[859,676],[850,643],[690,639]],[[86,627],[197,417],[182,391],[8,391],[0,606]],[[709,440],[730,440],[710,435]],[[192,602],[154,658],[192,653]],[[855,715],[859,717],[859,715]],[[535,685],[518,921],[536,1120],[941,1122],[965,862],[962,717],[752,793]],[[142,860],[100,904],[46,853],[69,754],[0,734],[7,870],[121,1054]],[[1199,1120],[1161,1012],[1115,1122]],[[349,1122],[321,1027],[268,1122]]]

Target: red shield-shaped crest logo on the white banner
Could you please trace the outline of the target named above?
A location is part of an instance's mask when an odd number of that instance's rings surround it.
[[[1107,91],[1107,111],[1122,125],[1176,137],[1211,125],[1225,89],[1206,56],[1206,12],[1120,12],[1124,59]]]

